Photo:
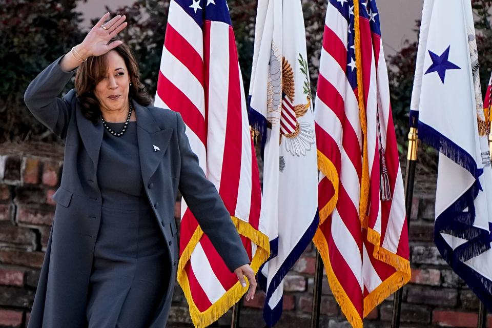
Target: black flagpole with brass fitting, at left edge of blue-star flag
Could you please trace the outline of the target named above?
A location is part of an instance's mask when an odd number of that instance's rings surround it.
[[[413,118],[416,120],[416,118]],[[412,122],[411,126],[416,127],[417,122]],[[419,138],[417,128],[410,128],[408,133],[408,153],[406,157],[405,174],[405,210],[408,230],[410,230],[410,216],[412,214],[412,198],[414,196],[415,167],[417,164],[417,152],[419,149]],[[401,300],[403,288],[395,292],[393,296],[393,315],[391,319],[392,328],[400,327]]]

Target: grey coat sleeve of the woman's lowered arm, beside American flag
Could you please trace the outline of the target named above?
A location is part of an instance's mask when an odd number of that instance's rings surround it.
[[[232,272],[241,265],[250,263],[248,254],[217,189],[205,177],[198,164],[198,157],[190,148],[185,134],[185,122],[179,113],[176,113],[176,118],[181,154],[179,190],[201,229]]]

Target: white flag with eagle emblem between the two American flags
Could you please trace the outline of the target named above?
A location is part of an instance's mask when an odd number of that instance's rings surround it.
[[[272,258],[258,279],[268,325],[282,313],[283,277],[318,226],[311,86],[300,0],[259,0],[250,122],[262,133],[263,202]],[[276,255],[276,256],[275,256]]]

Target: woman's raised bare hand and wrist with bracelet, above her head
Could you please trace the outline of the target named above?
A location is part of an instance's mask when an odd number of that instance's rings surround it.
[[[69,72],[77,68],[80,63],[87,60],[90,56],[104,55],[111,49],[116,48],[123,42],[120,40],[111,42],[111,38],[121,32],[127,24],[126,16],[116,15],[109,22],[109,12],[106,13],[99,22],[87,33],[84,41],[73,47],[60,61],[60,68]]]

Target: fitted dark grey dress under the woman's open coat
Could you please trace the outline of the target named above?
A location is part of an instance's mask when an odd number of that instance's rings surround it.
[[[108,123],[121,131],[123,123]],[[87,302],[89,328],[150,325],[170,277],[165,239],[145,194],[136,122],[116,137],[104,130],[97,183],[101,224]]]

